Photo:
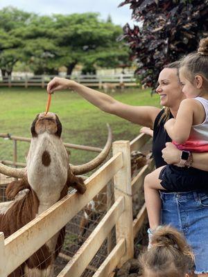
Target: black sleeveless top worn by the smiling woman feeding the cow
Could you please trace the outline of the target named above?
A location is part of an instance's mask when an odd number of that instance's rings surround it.
[[[155,166],[159,168],[160,166],[165,166],[166,162],[162,159],[162,150],[166,147],[166,143],[171,142],[170,136],[168,136],[166,130],[164,129],[164,120],[158,125],[159,119],[164,113],[164,109],[159,111],[157,117],[155,118],[154,128],[153,128],[153,157],[155,159]],[[170,114],[170,118],[173,115]]]

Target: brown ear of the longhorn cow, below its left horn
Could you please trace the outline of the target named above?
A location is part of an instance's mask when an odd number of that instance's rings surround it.
[[[6,197],[8,199],[14,199],[20,190],[25,190],[26,188],[30,189],[30,185],[26,179],[12,181],[6,188]]]

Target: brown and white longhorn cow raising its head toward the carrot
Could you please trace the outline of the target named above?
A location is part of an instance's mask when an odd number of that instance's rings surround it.
[[[32,139],[26,168],[10,168],[0,163],[3,175],[19,178],[6,188],[6,196],[11,201],[0,203],[0,231],[5,238],[67,195],[69,186],[85,193],[84,181],[76,175],[96,168],[107,157],[112,144],[109,126],[108,129],[107,143],[102,152],[84,165],[73,166],[69,164],[69,154],[60,139],[62,125],[58,116],[53,113],[36,116],[31,125]],[[53,235],[9,277],[53,276],[54,260],[62,247],[64,232],[62,228]]]

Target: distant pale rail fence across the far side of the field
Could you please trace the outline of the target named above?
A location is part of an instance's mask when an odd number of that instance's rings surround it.
[[[46,87],[48,82],[52,80],[55,75],[34,75],[28,77],[14,76],[7,77],[0,80],[0,86],[4,87]],[[113,83],[119,86],[121,83],[125,83],[126,87],[135,87],[136,79],[133,74],[112,74],[112,75],[66,75],[65,78],[76,80],[80,84],[84,84],[87,87],[99,87],[102,88],[102,84]]]

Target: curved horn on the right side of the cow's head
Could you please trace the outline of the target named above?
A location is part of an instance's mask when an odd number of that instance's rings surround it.
[[[107,124],[107,129],[108,129],[107,143],[105,144],[105,148],[103,148],[101,153],[98,154],[96,158],[92,159],[92,161],[89,161],[89,163],[84,163],[83,165],[80,165],[80,166],[73,166],[70,164],[71,171],[73,172],[74,175],[81,175],[91,170],[94,170],[94,168],[96,168],[101,163],[103,163],[103,161],[107,157],[107,154],[110,152],[110,148],[112,145],[112,131],[108,124]]]

